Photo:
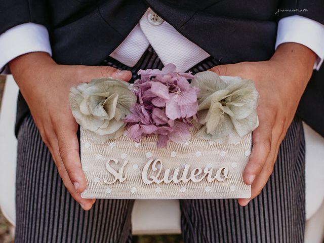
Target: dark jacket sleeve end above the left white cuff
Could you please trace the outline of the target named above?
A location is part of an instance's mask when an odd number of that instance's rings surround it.
[[[0,34],[23,23],[33,22],[49,28],[45,0],[0,0]]]

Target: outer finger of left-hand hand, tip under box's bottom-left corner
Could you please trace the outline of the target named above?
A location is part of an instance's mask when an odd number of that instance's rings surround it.
[[[77,201],[77,203],[80,204],[80,206],[84,210],[90,210],[92,205],[95,203],[95,199],[88,199],[88,198],[82,198],[80,193],[75,191],[74,185],[72,184],[69,175],[65,169],[65,166],[63,164],[63,161],[60,156],[59,146],[58,146],[58,140],[51,140],[51,149],[50,152],[52,154],[52,157],[55,161],[55,164],[57,166],[58,173],[63,181],[63,184],[65,185],[66,189],[69,191],[71,196],[74,200]]]

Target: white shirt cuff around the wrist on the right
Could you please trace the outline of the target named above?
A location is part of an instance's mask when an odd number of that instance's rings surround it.
[[[316,55],[314,69],[319,70],[324,60],[324,25],[315,20],[294,15],[279,20],[275,49],[287,42],[302,44]]]

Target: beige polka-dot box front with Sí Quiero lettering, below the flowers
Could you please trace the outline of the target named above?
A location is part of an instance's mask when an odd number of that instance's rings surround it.
[[[176,199],[249,198],[243,171],[251,134],[237,145],[197,139],[156,148],[157,137],[140,143],[126,136],[96,144],[81,128],[81,163],[87,179],[84,198]]]

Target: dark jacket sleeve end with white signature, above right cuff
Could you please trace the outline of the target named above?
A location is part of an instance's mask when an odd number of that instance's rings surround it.
[[[324,1],[323,0],[282,0],[279,4],[278,20],[300,15],[321,24],[324,24]]]

